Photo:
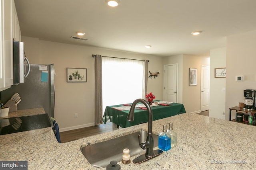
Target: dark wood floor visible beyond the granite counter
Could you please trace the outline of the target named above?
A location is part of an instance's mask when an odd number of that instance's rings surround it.
[[[197,113],[204,116],[209,116],[209,110]],[[112,131],[112,122],[108,121],[106,125],[95,125],[91,127],[84,127],[81,129],[75,129],[71,131],[60,132],[60,140],[62,143],[75,141],[84,137],[97,135],[100,133],[106,133]]]

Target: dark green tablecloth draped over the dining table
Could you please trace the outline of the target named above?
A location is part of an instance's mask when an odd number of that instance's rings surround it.
[[[160,101],[160,100],[155,100],[155,101]],[[130,127],[130,126],[148,122],[147,110],[143,110],[136,107],[134,111],[134,121],[128,121],[126,118],[129,113],[129,110],[120,111],[118,109],[113,108],[113,107],[119,107],[119,106],[123,106],[123,105],[121,104],[121,105],[106,107],[103,115],[104,124],[106,124],[106,121],[110,119],[111,122],[124,128],[124,127]],[[166,117],[171,117],[178,114],[182,114],[182,113],[186,113],[186,110],[183,104],[178,104],[178,103],[172,103],[170,104],[170,106],[160,106],[160,105],[153,106],[151,107],[151,109],[153,112],[153,121],[158,119],[163,119]]]

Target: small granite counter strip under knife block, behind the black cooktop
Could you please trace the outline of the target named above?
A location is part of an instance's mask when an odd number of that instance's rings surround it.
[[[44,108],[34,108],[34,109],[22,109],[22,110],[17,110],[14,112],[9,112],[8,116],[6,117],[1,117],[1,119],[5,118],[12,118],[12,117],[20,117],[20,116],[29,116],[29,115],[39,115],[39,114],[44,114]]]

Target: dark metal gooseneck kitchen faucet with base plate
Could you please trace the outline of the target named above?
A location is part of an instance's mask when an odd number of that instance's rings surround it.
[[[140,135],[138,135],[139,138],[139,144],[140,147],[142,149],[146,149],[146,153],[145,155],[141,155],[138,156],[137,158],[135,158],[133,160],[133,162],[135,164],[140,164],[141,162],[144,162],[150,158],[153,158],[155,156],[158,156],[159,154],[161,154],[163,151],[162,150],[153,150],[154,148],[154,139],[153,139],[153,133],[152,133],[152,125],[153,125],[153,112],[152,109],[150,107],[150,105],[148,104],[148,102],[146,102],[146,100],[144,99],[136,99],[134,100],[134,102],[132,103],[131,109],[128,113],[127,116],[127,120],[128,121],[134,121],[134,109],[137,103],[141,102],[142,104],[144,104],[147,108],[148,111],[148,137],[146,139],[146,142],[141,143],[140,142]]]

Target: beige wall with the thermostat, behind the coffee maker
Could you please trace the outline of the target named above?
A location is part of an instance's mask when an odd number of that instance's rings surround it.
[[[226,120],[229,108],[244,100],[243,90],[256,89],[256,30],[227,37],[226,46]],[[235,76],[244,75],[243,82]],[[232,114],[235,119],[235,114]]]

